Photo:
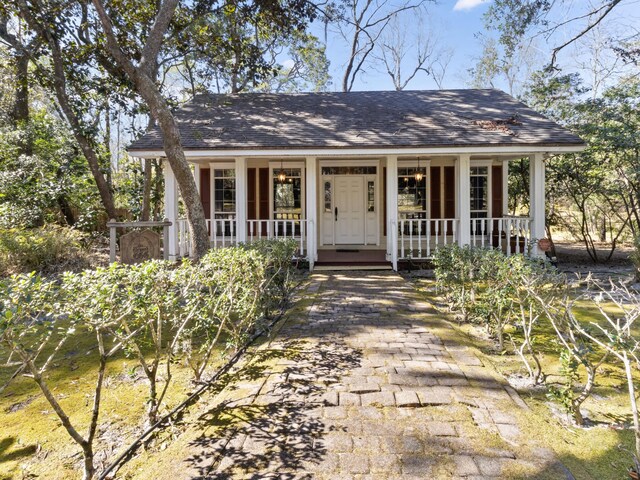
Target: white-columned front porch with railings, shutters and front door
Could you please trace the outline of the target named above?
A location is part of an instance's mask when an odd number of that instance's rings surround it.
[[[508,211],[509,160],[530,159],[530,215]],[[310,269],[320,252],[382,250],[394,270],[453,243],[541,255],[544,153],[190,159],[212,248],[292,238]],[[214,161],[215,160],[215,161]],[[191,251],[165,165],[169,256]],[[322,256],[323,254],[321,254]],[[324,254],[327,255],[326,253]]]

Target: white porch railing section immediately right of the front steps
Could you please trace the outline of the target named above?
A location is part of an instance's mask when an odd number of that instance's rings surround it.
[[[435,249],[456,242],[458,220],[455,218],[401,219],[398,222],[399,258],[431,258]]]

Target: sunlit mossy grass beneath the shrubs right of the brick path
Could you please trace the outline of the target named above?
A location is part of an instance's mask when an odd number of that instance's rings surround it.
[[[433,280],[416,280],[423,297],[434,303],[437,300]],[[617,308],[610,304],[605,310],[615,316]],[[445,313],[445,312],[442,312]],[[588,299],[576,303],[577,318],[584,323],[603,324],[605,320]],[[449,316],[447,314],[447,316]],[[449,316],[449,320],[453,320]],[[474,324],[450,322],[454,329],[466,334],[470,344],[482,351],[497,371],[505,377],[527,376],[519,357],[513,352],[510,341],[505,342],[506,352],[496,352],[495,343],[487,338],[484,327]],[[640,336],[640,323],[633,329],[636,338]],[[510,335],[521,340],[517,330]],[[556,334],[548,321],[542,321],[536,328],[535,349],[541,354],[543,371],[550,383],[559,382],[560,361]],[[584,371],[580,371],[584,378]],[[636,372],[640,382],[640,374]],[[546,397],[546,389],[520,388],[520,394],[531,408],[520,415],[519,426],[525,438],[554,450],[560,461],[580,479],[626,478],[627,470],[633,465],[634,435],[626,377],[622,366],[610,356],[596,377],[596,387],[592,396],[583,404],[582,411],[588,418],[588,426],[579,428],[566,421],[559,405],[554,405]],[[526,478],[513,473],[513,478]]]

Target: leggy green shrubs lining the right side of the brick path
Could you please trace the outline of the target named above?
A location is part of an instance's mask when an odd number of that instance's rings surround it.
[[[440,249],[434,263],[450,309],[485,325],[499,352],[516,354],[530,384],[543,385],[577,425],[589,423],[581,406],[606,370],[603,366],[617,369],[625,379],[621,386],[628,391],[627,412],[637,435],[636,292],[623,284],[568,279],[539,259],[471,247]],[[512,352],[505,348],[505,336]],[[549,357],[559,360],[553,372]],[[558,374],[559,381],[551,379]]]

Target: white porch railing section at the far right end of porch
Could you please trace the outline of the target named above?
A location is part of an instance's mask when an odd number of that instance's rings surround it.
[[[507,256],[528,253],[531,236],[529,217],[472,218],[471,245],[496,248]]]

